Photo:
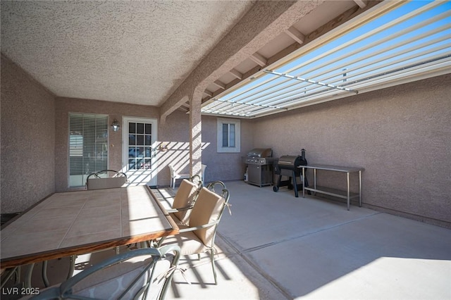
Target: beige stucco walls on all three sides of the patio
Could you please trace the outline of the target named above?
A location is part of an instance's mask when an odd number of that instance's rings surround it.
[[[241,120],[241,153],[216,152],[216,117],[202,116],[206,181],[242,180],[241,156],[271,147],[275,157],[307,150],[309,163],[357,165],[364,206],[451,227],[451,75],[359,94],[256,120]],[[55,98],[18,66],[1,58],[1,212],[22,211],[68,189],[68,113],[159,118],[159,108]],[[159,123],[158,185],[168,163],[189,172],[189,115]],[[121,133],[110,132],[109,168],[122,164]],[[355,178],[354,178],[355,179]],[[312,182],[311,173],[309,180]],[[343,188],[344,178],[319,184]],[[352,185],[355,190],[356,185]],[[302,199],[299,199],[302,201]]]

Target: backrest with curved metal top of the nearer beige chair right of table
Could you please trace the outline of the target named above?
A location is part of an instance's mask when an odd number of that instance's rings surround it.
[[[217,194],[214,189],[215,185],[221,185],[221,194]],[[210,188],[209,188],[210,187]],[[228,204],[229,192],[223,182],[211,182],[207,187],[202,187],[197,196],[194,207],[190,215],[190,227],[197,227],[209,223],[215,223],[211,227],[194,230],[194,235],[206,245],[213,246],[216,235],[216,228],[223,214],[224,208]]]

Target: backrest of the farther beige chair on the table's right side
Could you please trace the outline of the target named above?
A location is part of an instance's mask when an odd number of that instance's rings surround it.
[[[196,180],[196,177],[199,176],[194,175],[189,180],[182,180],[180,187],[178,187],[177,193],[174,196],[172,208],[188,208],[194,204],[202,187],[202,181],[200,179]],[[190,211],[190,209],[183,209],[176,211],[174,215],[182,223],[187,223],[190,218]]]

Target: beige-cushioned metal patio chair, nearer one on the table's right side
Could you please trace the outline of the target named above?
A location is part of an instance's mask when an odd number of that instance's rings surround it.
[[[221,191],[216,193],[219,186]],[[221,220],[224,208],[228,206],[229,192],[223,182],[211,182],[207,187],[202,187],[191,211],[188,226],[180,227],[180,233],[171,237],[161,238],[158,246],[178,245],[182,255],[210,253],[211,268],[213,268],[214,283],[216,280],[216,269],[214,263],[214,240],[216,229]]]

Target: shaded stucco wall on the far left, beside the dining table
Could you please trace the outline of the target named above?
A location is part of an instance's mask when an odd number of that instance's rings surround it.
[[[54,96],[1,56],[1,213],[54,192]]]

